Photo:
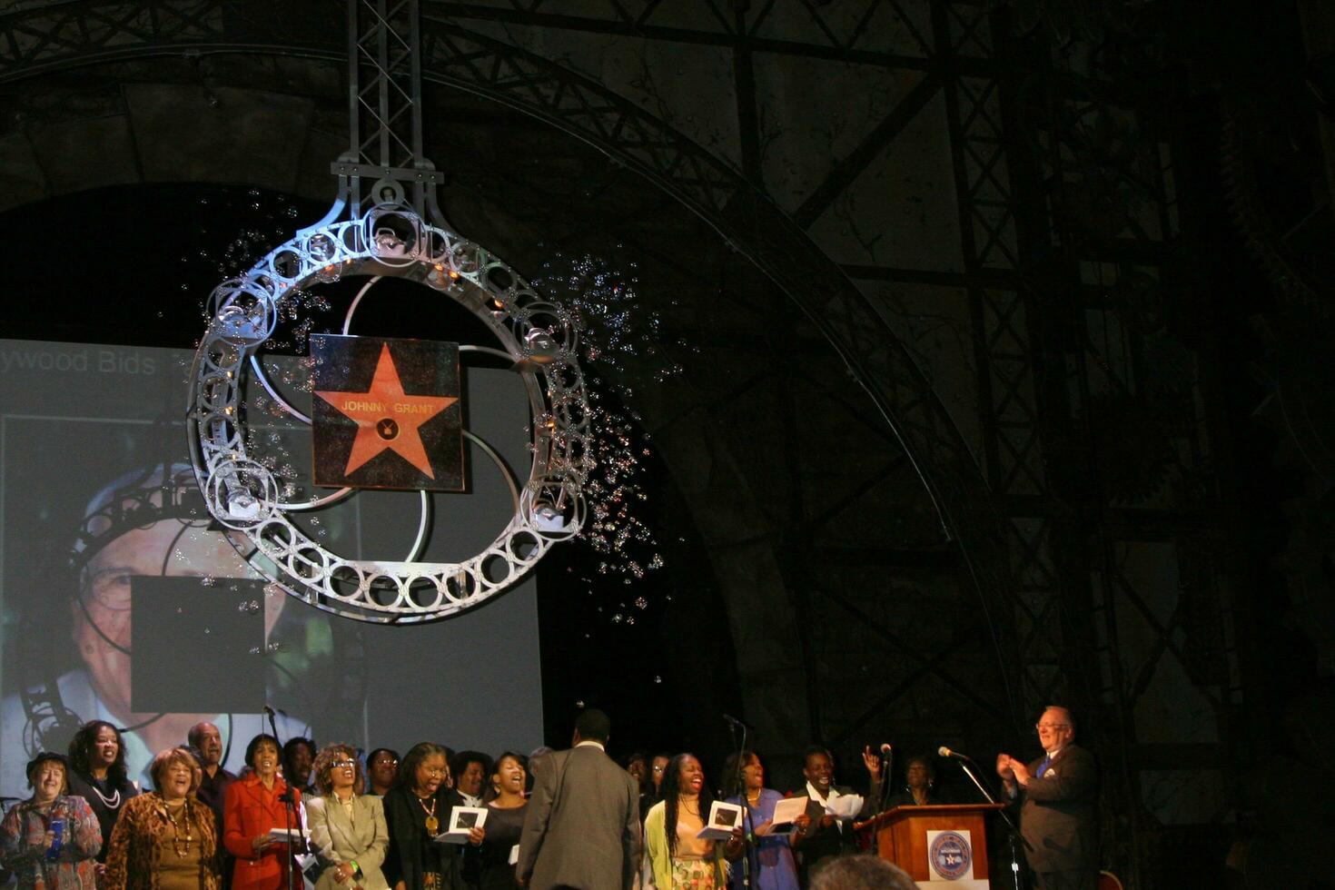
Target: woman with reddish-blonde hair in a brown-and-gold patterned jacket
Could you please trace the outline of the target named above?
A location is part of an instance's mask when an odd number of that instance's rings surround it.
[[[203,771],[188,747],[150,767],[156,791],[125,801],[111,833],[103,890],[218,890],[218,823],[195,798]]]

